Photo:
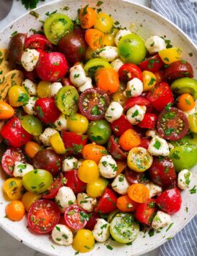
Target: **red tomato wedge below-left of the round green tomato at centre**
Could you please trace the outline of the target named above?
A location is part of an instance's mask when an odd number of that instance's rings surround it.
[[[75,132],[62,132],[65,149],[68,154],[78,155],[86,145],[88,136],[75,134]]]

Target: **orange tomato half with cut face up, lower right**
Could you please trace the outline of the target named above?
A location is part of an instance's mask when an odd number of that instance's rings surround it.
[[[137,203],[145,203],[150,198],[149,189],[143,184],[132,184],[128,188],[128,196]]]

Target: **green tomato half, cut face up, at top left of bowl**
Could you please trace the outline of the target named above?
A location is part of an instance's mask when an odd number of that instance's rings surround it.
[[[73,22],[65,14],[51,14],[44,24],[44,32],[47,40],[58,45],[60,38],[73,31]]]

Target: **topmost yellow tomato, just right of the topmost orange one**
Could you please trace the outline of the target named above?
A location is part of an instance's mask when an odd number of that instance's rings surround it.
[[[112,19],[108,14],[101,12],[96,17],[94,28],[101,32],[108,33],[112,29],[113,25],[114,19]]]

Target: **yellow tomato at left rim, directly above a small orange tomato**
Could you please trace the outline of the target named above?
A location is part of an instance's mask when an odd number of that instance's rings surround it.
[[[10,200],[19,200],[22,198],[22,179],[21,178],[9,178],[4,183],[4,192]]]

